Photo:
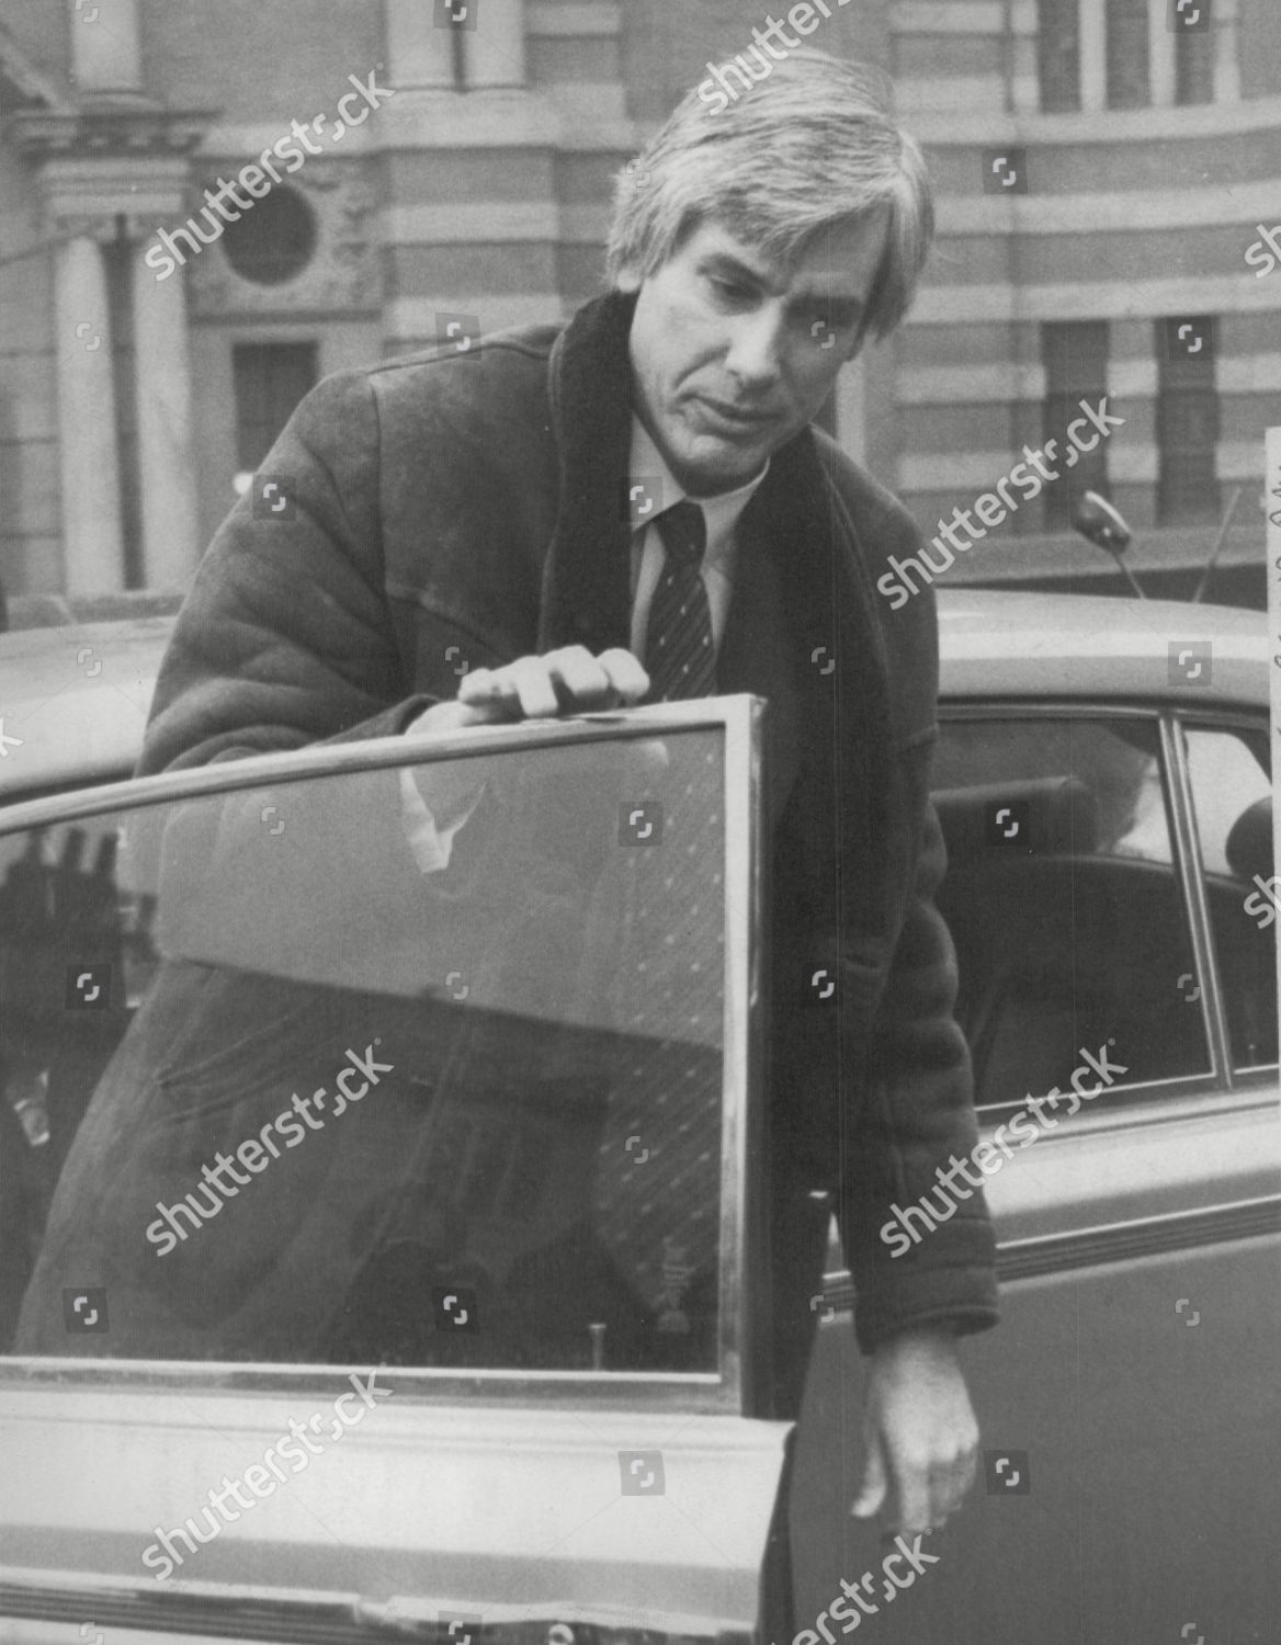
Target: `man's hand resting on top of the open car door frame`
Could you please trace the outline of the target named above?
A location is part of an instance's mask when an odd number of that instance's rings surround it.
[[[631,651],[618,646],[592,656],[585,645],[567,645],[546,656],[518,656],[503,668],[472,670],[462,676],[454,702],[424,709],[406,732],[631,707],[648,689],[650,676]]]

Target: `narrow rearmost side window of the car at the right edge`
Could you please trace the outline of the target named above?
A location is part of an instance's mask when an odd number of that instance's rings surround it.
[[[1184,729],[1233,1066],[1276,1063],[1273,795],[1266,732]]]

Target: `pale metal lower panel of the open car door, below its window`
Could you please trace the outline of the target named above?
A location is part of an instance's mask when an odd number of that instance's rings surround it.
[[[102,1362],[105,1379],[113,1372]],[[79,1566],[117,1602],[140,1592],[146,1604],[163,1589],[173,1606],[187,1592],[189,1624],[199,1601],[250,1587],[281,1610],[301,1596],[345,1594],[370,1622],[378,1607],[406,1622],[480,1615],[487,1638],[526,1619],[704,1638],[751,1632],[786,1425],[599,1405],[521,1410],[483,1397],[436,1403],[401,1387],[288,1479],[270,1540],[242,1513],[199,1559],[186,1553],[191,1578],[161,1584],[156,1556],[141,1563],[155,1528],[183,1525],[210,1482],[243,1476],[291,1415],[306,1425],[308,1411],[327,1411],[345,1379],[324,1380],[308,1395],[252,1398],[7,1387],[0,1581],[18,1568],[25,1582],[53,1586]],[[329,1444],[326,1426],[317,1436]],[[620,1494],[620,1453],[661,1454],[663,1490]]]

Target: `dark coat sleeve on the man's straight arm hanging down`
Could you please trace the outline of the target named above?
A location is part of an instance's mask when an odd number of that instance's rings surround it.
[[[919,548],[919,533],[888,492],[867,477],[860,490],[857,536],[875,584],[891,554]],[[970,1188],[957,1171],[949,1193],[936,1175],[964,1160],[972,1178],[982,1179],[970,1163],[977,1120],[969,1046],[955,1020],[955,946],[936,903],[947,854],[929,798],[939,676],[934,591],[923,587],[901,610],[880,592],[873,602],[895,722],[901,826],[891,857],[906,857],[899,864],[906,898],[872,1020],[857,1022],[857,1043],[847,1038],[840,1053],[845,1077],[862,1087],[862,1101],[850,1105],[857,1120],[844,1138],[837,1209],[863,1351],[904,1329],[947,1324],[969,1332],[998,1318],[995,1237],[983,1189]],[[932,1230],[923,1217],[909,1219],[924,1232],[904,1250],[908,1235],[895,1232],[901,1229],[895,1207],[916,1211],[926,1194],[944,1216],[934,1217]]]

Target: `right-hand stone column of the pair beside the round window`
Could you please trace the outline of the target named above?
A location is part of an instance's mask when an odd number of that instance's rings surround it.
[[[143,584],[186,589],[201,554],[191,434],[187,293],[143,262],[155,225],[133,245],[133,359]]]

